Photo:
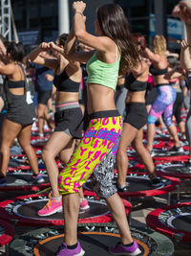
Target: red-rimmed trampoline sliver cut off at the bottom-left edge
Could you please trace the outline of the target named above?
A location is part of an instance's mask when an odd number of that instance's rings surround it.
[[[0,246],[9,244],[14,236],[14,229],[9,222],[0,220]]]

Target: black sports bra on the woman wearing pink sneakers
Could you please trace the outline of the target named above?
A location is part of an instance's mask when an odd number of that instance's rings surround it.
[[[78,92],[80,82],[72,81],[68,77],[65,68],[60,75],[54,75],[53,84],[58,91]]]

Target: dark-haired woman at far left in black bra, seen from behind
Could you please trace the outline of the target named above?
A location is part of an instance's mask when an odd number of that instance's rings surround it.
[[[21,43],[12,41],[6,44],[6,48],[7,62],[5,65],[0,65],[0,74],[6,76],[4,89],[8,105],[7,117],[3,122],[1,131],[0,184],[6,183],[10,148],[15,138],[18,139],[20,146],[30,161],[33,172],[32,181],[42,183],[44,178],[38,173],[37,159],[31,145],[35,109],[21,64],[25,55],[24,47]]]

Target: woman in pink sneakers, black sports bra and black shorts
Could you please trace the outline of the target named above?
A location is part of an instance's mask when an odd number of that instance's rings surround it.
[[[48,203],[38,211],[39,216],[50,216],[62,210],[61,196],[57,190],[58,167],[55,156],[59,153],[62,164],[66,164],[75,146],[75,139],[82,137],[82,112],[78,103],[78,91],[82,72],[78,61],[68,61],[63,57],[64,45],[68,35],[60,35],[56,42],[43,42],[30,54],[32,62],[53,69],[53,84],[56,87],[55,128],[47,142],[42,158],[49,175],[52,194]],[[42,58],[41,52],[53,51],[53,58]],[[89,208],[81,196],[81,207]]]

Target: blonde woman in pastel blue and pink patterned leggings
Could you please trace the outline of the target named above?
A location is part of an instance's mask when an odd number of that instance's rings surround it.
[[[171,137],[174,140],[175,146],[170,151],[182,152],[180,140],[177,133],[177,128],[173,124],[173,105],[176,100],[176,91],[168,80],[164,78],[168,71],[168,61],[166,58],[166,39],[163,35],[155,35],[152,42],[153,52],[147,47],[144,54],[152,61],[150,73],[153,75],[155,85],[157,86],[158,97],[153,103],[147,120],[147,150],[153,153],[153,141],[155,137],[155,123],[162,115],[164,124],[168,128]]]

